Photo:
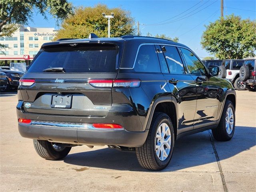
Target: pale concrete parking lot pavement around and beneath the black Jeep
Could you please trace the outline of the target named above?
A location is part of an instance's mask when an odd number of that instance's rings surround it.
[[[237,92],[236,131],[177,140],[170,165],[146,171],[132,152],[78,146],[59,161],[40,158],[18,133],[14,93],[0,95],[1,191],[256,191],[256,93]]]

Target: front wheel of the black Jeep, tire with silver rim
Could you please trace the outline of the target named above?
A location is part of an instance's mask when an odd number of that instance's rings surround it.
[[[230,119],[231,122],[233,121],[233,127],[232,127],[232,130],[229,129],[229,132],[226,129],[226,115],[227,115],[228,109],[231,109],[233,113],[233,118]],[[232,139],[235,132],[235,122],[236,122],[236,116],[235,116],[234,105],[230,100],[226,100],[218,127],[215,129],[212,129],[212,134],[214,138],[218,141],[229,141],[230,139]]]

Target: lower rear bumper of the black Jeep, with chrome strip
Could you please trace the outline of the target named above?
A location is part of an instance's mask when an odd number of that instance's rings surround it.
[[[97,129],[79,124],[18,123],[20,135],[25,138],[48,140],[67,144],[116,145],[126,147],[142,146],[148,130],[130,132],[122,129]]]

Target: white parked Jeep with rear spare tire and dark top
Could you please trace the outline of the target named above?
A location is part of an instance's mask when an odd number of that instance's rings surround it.
[[[244,65],[244,60],[223,60],[220,66],[220,78],[228,79],[236,90],[246,90],[245,83],[239,77],[239,70]]]

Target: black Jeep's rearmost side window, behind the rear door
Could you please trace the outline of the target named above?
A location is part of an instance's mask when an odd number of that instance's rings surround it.
[[[160,65],[154,45],[142,45],[135,60],[134,71],[160,73]]]

